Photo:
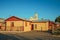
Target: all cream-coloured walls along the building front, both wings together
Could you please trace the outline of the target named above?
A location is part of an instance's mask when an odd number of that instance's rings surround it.
[[[11,28],[11,22],[14,22],[14,27]],[[26,26],[26,23],[27,23],[27,26]],[[39,30],[39,31],[48,31],[48,22],[46,23],[42,23],[42,22],[38,22],[38,23],[31,23],[31,22],[28,22],[28,21],[7,21],[7,24],[6,24],[6,30],[7,31],[20,31],[20,27],[21,26],[24,26],[24,32],[26,31],[31,31],[31,24],[37,24],[37,29],[35,28],[34,26],[34,30]]]

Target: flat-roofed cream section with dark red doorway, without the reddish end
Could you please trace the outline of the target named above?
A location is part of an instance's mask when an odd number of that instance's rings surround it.
[[[37,30],[37,31],[48,31],[48,22],[46,22],[46,21],[32,22],[32,30],[33,29]]]

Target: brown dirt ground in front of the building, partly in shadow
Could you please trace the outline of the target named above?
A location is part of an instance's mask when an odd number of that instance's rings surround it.
[[[60,40],[59,36],[48,32],[0,32],[0,40]]]

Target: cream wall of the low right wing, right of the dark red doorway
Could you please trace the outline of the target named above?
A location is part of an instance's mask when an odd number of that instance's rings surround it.
[[[38,30],[38,31],[48,31],[48,22],[46,23],[32,23],[32,24],[37,24],[37,29],[34,26],[34,30]]]

